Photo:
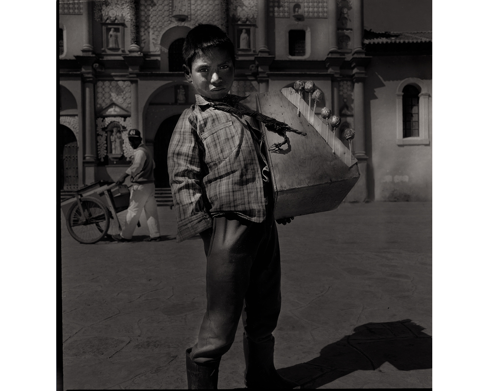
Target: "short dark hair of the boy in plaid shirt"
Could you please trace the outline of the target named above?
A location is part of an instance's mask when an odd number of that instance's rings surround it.
[[[214,24],[199,24],[190,30],[185,38],[182,49],[183,63],[192,70],[192,63],[196,57],[205,55],[215,48],[225,50],[235,65],[234,45],[226,33]]]

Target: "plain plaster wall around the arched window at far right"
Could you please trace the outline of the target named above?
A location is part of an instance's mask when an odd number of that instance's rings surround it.
[[[397,88],[422,79],[429,93],[429,145],[397,145]],[[431,56],[374,57],[365,82],[369,194],[376,201],[432,199]],[[369,137],[370,135],[370,137]]]

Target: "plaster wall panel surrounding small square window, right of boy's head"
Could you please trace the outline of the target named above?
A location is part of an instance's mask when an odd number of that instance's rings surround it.
[[[274,50],[276,60],[322,61],[328,55],[330,47],[328,19],[308,18],[304,22],[295,22],[293,18],[275,18],[274,24],[275,30],[273,36],[275,37]],[[311,54],[307,58],[289,56],[289,30],[301,30],[308,27],[311,32]]]

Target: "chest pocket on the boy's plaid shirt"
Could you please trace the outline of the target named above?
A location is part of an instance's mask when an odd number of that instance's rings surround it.
[[[238,148],[239,137],[231,120],[202,132],[201,137],[205,160],[209,163],[226,160]]]

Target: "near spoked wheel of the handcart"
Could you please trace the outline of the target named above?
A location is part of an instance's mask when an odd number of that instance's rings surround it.
[[[68,210],[66,224],[69,234],[80,243],[95,243],[109,230],[109,210],[102,201],[82,197],[80,205],[75,202]]]

